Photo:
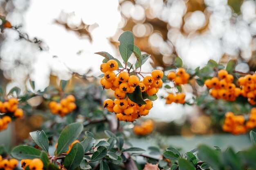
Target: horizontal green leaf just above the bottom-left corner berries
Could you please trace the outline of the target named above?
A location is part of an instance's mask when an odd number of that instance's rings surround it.
[[[31,146],[16,146],[11,150],[11,156],[15,159],[34,159],[40,158],[41,150]]]

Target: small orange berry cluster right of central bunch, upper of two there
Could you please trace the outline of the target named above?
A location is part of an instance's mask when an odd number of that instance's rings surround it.
[[[184,85],[189,82],[190,75],[184,68],[178,68],[176,72],[168,72],[167,78],[170,81],[173,81],[176,85]]]

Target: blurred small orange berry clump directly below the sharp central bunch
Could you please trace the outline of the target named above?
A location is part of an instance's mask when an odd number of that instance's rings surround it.
[[[136,135],[148,135],[154,129],[154,122],[152,120],[146,120],[145,122],[141,123],[141,125],[135,125],[133,131]]]

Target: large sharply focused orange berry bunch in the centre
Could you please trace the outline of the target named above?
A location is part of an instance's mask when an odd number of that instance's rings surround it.
[[[126,93],[132,93],[138,86],[141,92],[146,92],[148,96],[153,96],[158,92],[158,89],[162,86],[161,80],[164,76],[164,72],[161,70],[154,70],[151,76],[145,76],[142,81],[139,81],[139,77],[131,75],[128,72],[120,71],[115,74],[115,70],[118,69],[118,63],[115,60],[109,60],[107,63],[101,64],[101,72],[105,73],[101,78],[101,85],[103,89],[112,89],[115,91],[115,100],[107,99],[104,101],[104,108],[110,112],[117,114],[118,120],[133,122],[140,116],[146,116],[149,110],[153,106],[151,100],[145,100],[145,105],[139,105],[132,102]],[[126,98],[126,99],[124,99]]]

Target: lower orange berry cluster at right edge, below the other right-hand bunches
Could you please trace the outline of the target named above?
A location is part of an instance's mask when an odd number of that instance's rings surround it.
[[[224,124],[222,129],[225,132],[233,133],[234,135],[246,133],[256,127],[256,107],[251,109],[249,119],[245,120],[243,115],[234,115],[232,112],[225,114]]]

